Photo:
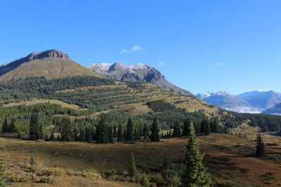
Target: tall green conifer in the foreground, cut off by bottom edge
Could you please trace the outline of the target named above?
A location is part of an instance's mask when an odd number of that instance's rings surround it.
[[[202,165],[203,155],[199,151],[197,138],[195,136],[195,129],[193,125],[190,126],[190,138],[186,145],[187,151],[185,154],[186,169],[181,177],[182,186],[204,186],[209,187],[211,178],[207,174],[207,169]]]

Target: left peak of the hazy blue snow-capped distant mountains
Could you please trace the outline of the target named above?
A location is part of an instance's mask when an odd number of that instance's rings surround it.
[[[252,112],[254,109],[251,107],[251,104],[246,102],[244,99],[237,97],[237,95],[232,95],[228,92],[205,92],[201,95],[197,95],[197,97],[200,97],[205,102],[209,102],[228,111],[254,113]]]

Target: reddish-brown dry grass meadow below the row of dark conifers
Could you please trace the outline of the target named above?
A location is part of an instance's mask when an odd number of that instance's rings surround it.
[[[268,134],[270,136],[270,134]],[[5,163],[16,165],[18,162],[28,162],[30,151],[35,152],[37,162],[48,167],[63,169],[94,168],[98,172],[110,169],[124,171],[127,169],[129,155],[136,155],[139,169],[156,171],[162,166],[162,158],[168,152],[172,160],[183,160],[186,138],[162,139],[160,143],[138,142],[136,144],[91,144],[81,142],[37,142],[3,138],[5,141]],[[280,137],[274,137],[268,146],[266,158],[254,158],[254,141],[242,139],[229,134],[211,134],[198,137],[202,152],[206,153],[204,165],[209,167],[213,181],[236,179],[248,181],[251,184],[277,186],[281,185],[281,162],[272,158],[280,158]],[[265,138],[266,143],[269,143]],[[276,145],[278,144],[278,145]],[[268,175],[266,173],[273,173]],[[77,178],[77,179],[76,179]],[[87,186],[89,179],[79,176],[58,176],[54,185],[67,181],[67,185],[82,180]],[[95,181],[97,182],[97,181]],[[100,181],[107,183],[107,181]],[[15,184],[17,185],[17,184]],[[111,185],[111,184],[108,184]],[[116,184],[121,185],[120,183]],[[131,185],[129,183],[128,185]],[[107,186],[107,184],[105,184]]]

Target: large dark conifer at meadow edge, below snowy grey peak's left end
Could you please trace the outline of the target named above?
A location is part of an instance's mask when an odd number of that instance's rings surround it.
[[[107,125],[105,123],[105,116],[100,116],[100,121],[96,127],[96,142],[98,144],[108,143]]]

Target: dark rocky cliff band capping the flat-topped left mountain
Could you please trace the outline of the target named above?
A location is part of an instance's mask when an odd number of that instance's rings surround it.
[[[11,63],[1,65],[0,66],[0,76],[6,74],[8,71],[12,71],[13,69],[19,67],[21,64],[24,64],[26,62],[30,62],[32,60],[39,60],[42,58],[50,58],[50,57],[60,58],[60,59],[69,59],[70,58],[67,54],[62,53],[55,49],[46,50],[46,51],[40,52],[40,53],[32,52],[32,53],[30,53],[30,55],[27,55],[27,57],[22,57],[19,60],[15,60]]]

